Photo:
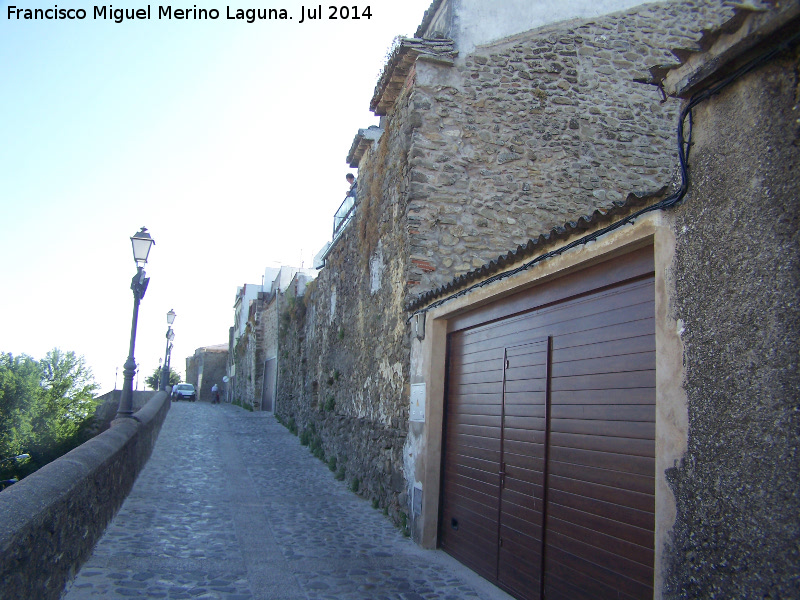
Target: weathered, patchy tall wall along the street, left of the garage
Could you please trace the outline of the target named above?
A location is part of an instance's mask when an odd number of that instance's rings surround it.
[[[308,430],[340,477],[398,522],[408,430],[408,99],[361,160],[358,208],[326,267],[282,305],[277,399],[278,417]]]

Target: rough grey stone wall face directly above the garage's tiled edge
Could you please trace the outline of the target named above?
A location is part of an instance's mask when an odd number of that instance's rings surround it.
[[[677,166],[678,102],[634,83],[675,64],[730,2],[648,4],[418,61],[411,104],[411,279],[424,292]],[[725,6],[725,8],[721,8]]]

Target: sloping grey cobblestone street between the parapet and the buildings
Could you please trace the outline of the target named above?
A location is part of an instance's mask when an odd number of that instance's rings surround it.
[[[274,418],[174,403],[66,600],[500,600],[336,481]]]

